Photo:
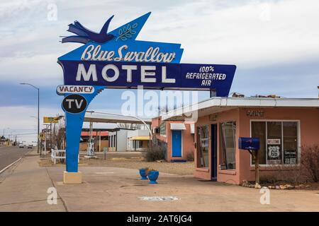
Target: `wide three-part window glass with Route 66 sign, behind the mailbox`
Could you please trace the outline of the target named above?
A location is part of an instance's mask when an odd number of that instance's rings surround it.
[[[251,125],[252,137],[260,139],[260,164],[298,164],[298,122],[252,121]]]

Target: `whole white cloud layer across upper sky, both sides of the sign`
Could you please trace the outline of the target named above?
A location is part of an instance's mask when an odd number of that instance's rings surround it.
[[[57,21],[46,20],[50,2],[57,4]],[[62,81],[57,57],[78,46],[58,42],[59,35],[67,34],[67,23],[80,20],[92,30],[99,29],[114,13],[113,29],[147,11],[153,13],[138,39],[179,42],[184,48],[182,61],[187,63],[237,64],[245,69],[319,57],[315,0],[168,1],[160,7],[149,1],[6,1],[1,3],[7,23],[1,28],[6,32],[0,43],[0,79]]]

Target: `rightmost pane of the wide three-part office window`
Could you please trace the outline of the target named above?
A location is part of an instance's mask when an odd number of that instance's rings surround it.
[[[298,164],[298,124],[284,121],[284,164]]]

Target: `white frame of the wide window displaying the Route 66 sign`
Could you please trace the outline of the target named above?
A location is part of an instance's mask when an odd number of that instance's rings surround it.
[[[301,133],[300,133],[300,120],[298,119],[250,119],[250,137],[252,137],[252,121],[281,121],[281,137],[283,141],[281,142],[281,150],[284,152],[284,127],[283,127],[283,122],[284,121],[293,121],[297,122],[297,146],[298,146],[298,163],[297,164],[277,164],[277,165],[269,165],[269,164],[260,164],[259,166],[262,167],[270,167],[270,166],[300,166],[301,162]],[[267,125],[266,125],[266,147],[267,147]],[[281,157],[284,157],[283,155]],[[267,162],[267,155],[266,155],[266,162]],[[282,161],[284,162],[284,161]],[[250,155],[250,167],[254,167],[252,164],[252,155]]]

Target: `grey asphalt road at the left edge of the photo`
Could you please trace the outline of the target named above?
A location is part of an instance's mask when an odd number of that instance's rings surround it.
[[[31,149],[26,147],[18,148],[16,146],[0,148],[0,171],[7,165],[21,158],[28,150]]]

